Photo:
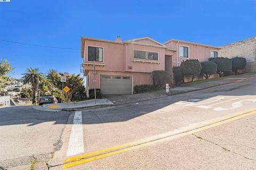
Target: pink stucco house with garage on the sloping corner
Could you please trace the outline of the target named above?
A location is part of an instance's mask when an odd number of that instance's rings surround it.
[[[133,94],[135,85],[153,84],[152,71],[165,70],[172,75],[172,67],[182,60],[207,61],[218,57],[220,49],[176,39],[162,44],[149,37],[125,41],[120,37],[115,41],[82,37],[81,48],[87,90],[94,88],[95,61],[95,84],[102,94]]]

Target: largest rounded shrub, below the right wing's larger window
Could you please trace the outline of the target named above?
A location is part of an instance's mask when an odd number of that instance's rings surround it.
[[[196,75],[200,74],[202,66],[198,60],[186,60],[181,62],[181,70],[184,75],[192,78],[192,81],[196,78]]]

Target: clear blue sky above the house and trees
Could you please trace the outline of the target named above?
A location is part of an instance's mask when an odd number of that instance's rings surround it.
[[[0,3],[0,39],[81,48],[81,36],[123,40],[149,36],[214,46],[256,36],[256,1],[21,1]],[[79,73],[78,49],[0,41],[0,60],[20,78],[28,67]]]

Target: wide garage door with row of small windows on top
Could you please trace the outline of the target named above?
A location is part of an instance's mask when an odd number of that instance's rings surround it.
[[[102,94],[132,94],[132,77],[124,75],[101,75]]]

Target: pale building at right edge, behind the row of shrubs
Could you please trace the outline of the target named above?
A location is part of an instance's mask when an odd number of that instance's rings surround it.
[[[245,71],[256,71],[256,37],[222,46],[220,49],[220,56],[228,58],[235,56],[245,57],[247,61]]]

